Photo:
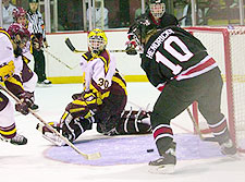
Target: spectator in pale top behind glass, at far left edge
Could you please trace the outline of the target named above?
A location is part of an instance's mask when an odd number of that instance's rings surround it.
[[[13,10],[16,9],[13,4],[10,3],[10,0],[2,0],[2,14],[3,14],[3,24],[2,27],[8,29],[9,26],[13,23]]]

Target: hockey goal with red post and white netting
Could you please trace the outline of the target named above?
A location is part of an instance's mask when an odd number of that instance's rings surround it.
[[[245,27],[186,28],[207,48],[217,61],[224,81],[221,111],[225,114],[232,139],[245,153]],[[193,105],[193,114],[201,133],[210,133],[203,116]]]

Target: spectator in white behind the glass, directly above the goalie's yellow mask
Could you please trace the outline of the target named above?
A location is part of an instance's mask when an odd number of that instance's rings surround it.
[[[107,29],[108,26],[108,9],[101,5],[100,0],[95,1],[95,13],[91,9],[91,21],[94,20],[95,14],[95,28]],[[87,23],[89,22],[89,10],[87,9]]]

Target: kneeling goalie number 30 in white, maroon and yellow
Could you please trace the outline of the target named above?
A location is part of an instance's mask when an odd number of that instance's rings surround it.
[[[115,58],[106,49],[107,36],[101,29],[88,34],[88,51],[82,56],[84,90],[72,96],[60,123],[50,123],[70,142],[97,123],[97,131],[105,135],[143,134],[151,132],[149,113],[124,111],[127,101],[126,83],[115,69]],[[44,136],[56,139],[44,126]],[[56,141],[53,141],[56,143]]]

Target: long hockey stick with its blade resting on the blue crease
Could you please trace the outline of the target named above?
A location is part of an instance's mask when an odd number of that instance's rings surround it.
[[[0,85],[0,88],[8,93],[16,102],[22,102],[15,95],[13,95],[9,89],[7,89],[4,86]],[[75,147],[66,137],[64,137],[62,134],[60,134],[56,129],[53,129],[51,125],[49,125],[45,120],[42,120],[37,113],[35,113],[32,109],[28,109],[29,112],[39,120],[42,124],[45,124],[51,132],[53,132],[56,135],[58,135],[65,144],[68,144],[71,148],[73,148],[76,153],[82,155],[85,159],[94,160],[101,157],[100,153],[95,154],[84,154],[82,153],[77,147]]]

